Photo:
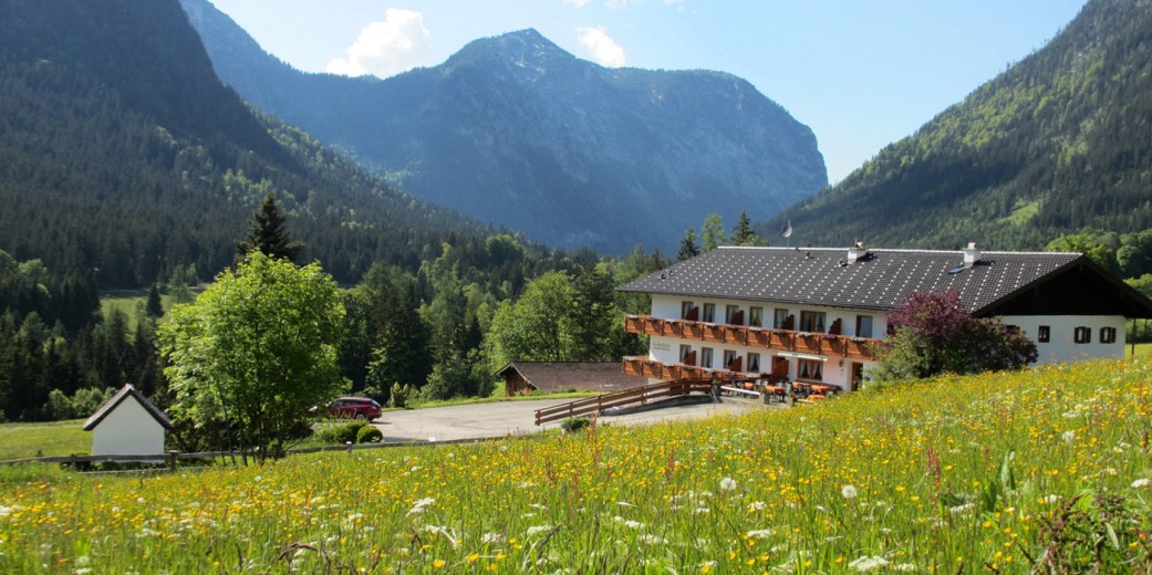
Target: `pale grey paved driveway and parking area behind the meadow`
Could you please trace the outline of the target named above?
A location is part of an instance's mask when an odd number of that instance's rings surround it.
[[[385,412],[374,422],[386,442],[444,442],[479,437],[503,437],[554,429],[560,422],[536,425],[536,411],[570,399],[495,401]],[[726,399],[722,404],[691,404],[652,408],[626,415],[602,415],[600,421],[614,425],[637,425],[668,420],[708,417],[721,413],[741,413],[763,408],[755,401]]]

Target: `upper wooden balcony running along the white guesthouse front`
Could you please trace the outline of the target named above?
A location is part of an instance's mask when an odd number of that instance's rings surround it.
[[[809,334],[788,329],[753,328],[691,320],[667,320],[651,315],[628,315],[624,330],[642,336],[668,336],[727,345],[745,345],[835,358],[873,360],[880,339],[869,337]]]

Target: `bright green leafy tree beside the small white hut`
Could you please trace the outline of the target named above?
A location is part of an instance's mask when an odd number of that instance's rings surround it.
[[[252,251],[161,328],[173,414],[222,424],[247,462],[283,453],[309,408],[343,389],[336,346],[344,309],[320,266]]]

